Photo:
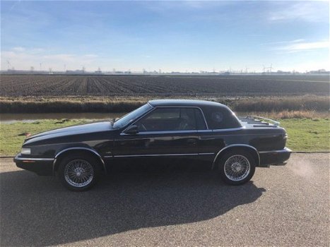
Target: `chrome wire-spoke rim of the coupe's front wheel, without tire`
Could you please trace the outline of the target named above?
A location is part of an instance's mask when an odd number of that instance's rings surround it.
[[[64,168],[64,179],[73,187],[88,186],[93,178],[93,166],[85,159],[73,159]]]

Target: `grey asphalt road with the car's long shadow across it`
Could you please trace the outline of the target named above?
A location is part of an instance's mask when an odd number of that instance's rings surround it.
[[[244,186],[172,167],[83,193],[0,162],[1,246],[329,246],[329,154],[293,154]]]

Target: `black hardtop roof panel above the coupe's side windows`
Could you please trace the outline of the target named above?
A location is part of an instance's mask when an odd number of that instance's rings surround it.
[[[218,102],[206,100],[150,100],[148,102],[153,107],[226,107]]]

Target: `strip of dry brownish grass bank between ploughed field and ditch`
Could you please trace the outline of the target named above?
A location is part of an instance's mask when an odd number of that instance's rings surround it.
[[[1,113],[130,112],[148,100],[157,98],[159,97],[0,97],[0,110]],[[177,95],[165,98],[212,100],[228,105],[235,112],[283,112],[280,118],[307,117],[307,112],[315,115],[317,112],[329,112],[330,109],[329,97],[315,95],[216,98]]]

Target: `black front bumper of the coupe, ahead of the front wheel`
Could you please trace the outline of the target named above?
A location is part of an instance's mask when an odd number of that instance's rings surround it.
[[[24,157],[20,153],[13,159],[17,167],[33,171],[40,176],[53,175],[54,158]]]

